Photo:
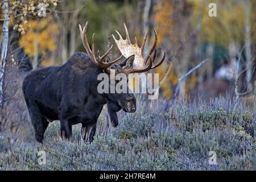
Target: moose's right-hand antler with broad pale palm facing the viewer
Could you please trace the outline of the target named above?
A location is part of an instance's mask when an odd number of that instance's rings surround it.
[[[123,23],[123,25],[125,26],[126,39],[123,39],[121,34],[119,34],[119,32],[117,30],[115,30],[115,32],[117,32],[117,34],[119,36],[119,40],[115,39],[115,36],[113,34],[112,34],[112,37],[115,41],[115,44],[117,44],[119,51],[122,53],[123,56],[125,56],[126,58],[128,58],[131,55],[135,56],[135,58],[134,58],[135,68],[127,69],[126,70],[127,74],[146,72],[150,69],[159,67],[159,65],[163,63],[164,58],[166,57],[166,52],[164,52],[164,55],[163,55],[162,59],[159,61],[159,63],[154,64],[156,53],[157,53],[156,52],[156,43],[158,41],[158,36],[156,34],[156,31],[154,30],[155,42],[154,42],[152,48],[150,49],[150,52],[148,52],[146,59],[144,59],[143,51],[144,51],[144,46],[145,46],[145,43],[147,40],[147,31],[148,30],[146,29],[146,34],[144,36],[142,46],[139,47],[136,37],[135,37],[135,44],[131,43],[126,24]],[[153,57],[151,58],[151,54],[153,52],[154,52],[154,54],[153,54]],[[150,63],[146,66],[148,59],[150,60]]]

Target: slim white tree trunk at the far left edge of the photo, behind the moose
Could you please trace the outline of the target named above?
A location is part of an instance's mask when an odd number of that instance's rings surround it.
[[[3,80],[5,77],[5,68],[6,68],[6,57],[8,50],[8,39],[9,39],[9,11],[8,11],[8,1],[3,3],[4,17],[5,21],[3,22],[2,30],[2,42],[1,42],[1,60],[0,60],[0,107],[3,106]]]

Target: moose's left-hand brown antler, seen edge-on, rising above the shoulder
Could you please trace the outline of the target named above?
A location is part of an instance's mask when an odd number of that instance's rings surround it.
[[[114,64],[119,59],[121,59],[122,55],[120,57],[118,57],[118,59],[115,59],[114,61],[110,61],[109,63],[105,63],[104,59],[109,54],[110,50],[112,49],[112,47],[113,47],[113,45],[112,45],[112,46],[110,46],[108,51],[106,51],[106,53],[103,56],[100,56],[100,51],[98,51],[97,52],[98,60],[96,60],[95,52],[94,52],[94,33],[92,35],[92,42],[91,42],[92,49],[90,49],[90,46],[88,44],[88,40],[86,38],[87,27],[88,27],[88,22],[85,23],[85,26],[83,28],[81,28],[81,25],[79,24],[82,44],[84,44],[84,48],[85,48],[86,52],[88,53],[90,59],[93,61],[94,64],[96,64],[98,67],[100,67],[102,69],[105,69],[107,72],[110,73],[110,68],[109,68],[110,65]]]

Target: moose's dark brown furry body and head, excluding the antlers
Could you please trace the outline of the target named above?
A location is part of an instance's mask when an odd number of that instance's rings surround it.
[[[126,62],[132,64],[132,61],[127,60],[129,58],[121,65],[112,65],[112,68],[123,72],[121,66]],[[98,93],[97,85],[100,81],[97,76],[103,72],[92,63],[89,56],[77,52],[64,65],[40,68],[28,73],[22,90],[38,142],[43,141],[49,121],[60,120],[61,136],[67,139],[72,137],[72,125],[82,123],[84,140],[91,142],[104,104],[108,104],[114,126],[118,125],[117,111],[136,110],[133,94]],[[132,108],[127,105],[132,105]]]

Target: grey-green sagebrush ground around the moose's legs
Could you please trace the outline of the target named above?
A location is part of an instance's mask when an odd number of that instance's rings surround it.
[[[119,113],[119,126],[108,126],[102,111],[92,143],[63,142],[59,122],[51,123],[43,144],[35,142],[29,121],[15,134],[0,137],[0,170],[227,170],[256,169],[255,111],[245,103],[216,98],[205,104],[167,101],[138,103],[136,113]],[[46,164],[39,164],[39,151]],[[209,152],[216,164],[209,164]],[[210,153],[212,155],[212,153]]]

